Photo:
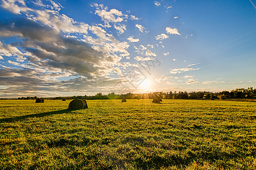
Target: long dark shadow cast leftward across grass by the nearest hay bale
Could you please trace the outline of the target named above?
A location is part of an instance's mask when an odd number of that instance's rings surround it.
[[[53,112],[44,112],[44,113],[37,113],[37,114],[28,114],[24,116],[16,116],[16,117],[10,117],[10,118],[2,118],[0,119],[0,122],[15,122],[15,121],[20,121],[26,118],[30,117],[44,117],[44,116],[51,116],[53,114],[63,114],[63,113],[68,113],[71,112],[72,109],[64,109],[60,111],[53,111]]]

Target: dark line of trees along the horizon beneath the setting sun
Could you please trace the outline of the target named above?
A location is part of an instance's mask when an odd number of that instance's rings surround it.
[[[38,97],[18,97],[19,100],[29,100],[37,99]],[[248,87],[237,88],[232,91],[222,91],[222,92],[209,92],[209,91],[199,91],[199,92],[186,92],[186,91],[170,91],[170,92],[150,92],[144,94],[114,94],[114,92],[108,95],[102,95],[101,92],[92,96],[68,96],[68,97],[51,97],[50,99],[86,99],[86,100],[98,100],[98,99],[256,99],[256,88]]]

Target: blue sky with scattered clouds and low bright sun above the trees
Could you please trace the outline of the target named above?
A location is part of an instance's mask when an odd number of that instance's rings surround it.
[[[0,97],[255,88],[255,4],[0,0]]]

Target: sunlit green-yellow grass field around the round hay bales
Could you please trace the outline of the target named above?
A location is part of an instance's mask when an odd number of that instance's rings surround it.
[[[0,169],[256,169],[256,103],[0,100]]]

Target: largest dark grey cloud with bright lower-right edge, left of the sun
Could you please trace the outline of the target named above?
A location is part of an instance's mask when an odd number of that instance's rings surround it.
[[[55,29],[30,19],[1,22],[0,28],[9,31],[9,37],[19,35],[22,39],[26,38],[19,45],[38,57],[40,60],[36,64],[42,67],[71,70],[85,76],[105,75],[106,70],[121,59],[110,53],[98,52],[85,42],[64,37]],[[98,36],[104,36],[104,31],[99,32]],[[28,57],[28,60],[33,61],[32,57]]]

